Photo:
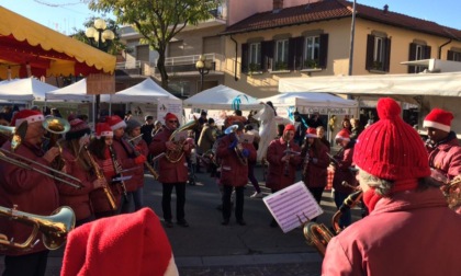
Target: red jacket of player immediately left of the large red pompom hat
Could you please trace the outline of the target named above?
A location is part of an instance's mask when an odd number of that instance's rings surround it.
[[[333,176],[333,187],[338,193],[350,194],[352,188],[342,185],[346,181],[352,186],[357,185],[356,174],[349,170],[352,166],[353,145],[349,143],[335,154],[338,164],[335,165],[335,174]]]

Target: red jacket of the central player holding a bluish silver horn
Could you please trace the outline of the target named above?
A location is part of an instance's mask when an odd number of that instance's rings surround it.
[[[248,162],[256,161],[256,149],[252,143],[241,143],[244,149],[249,150],[247,164],[241,164],[234,149],[229,145],[235,139],[234,135],[227,135],[220,139],[216,157],[221,159],[221,184],[241,187],[248,183]]]

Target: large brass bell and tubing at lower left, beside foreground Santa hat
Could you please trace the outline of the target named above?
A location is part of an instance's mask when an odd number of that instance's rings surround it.
[[[37,244],[38,231],[42,232],[42,242],[48,250],[59,249],[67,240],[67,234],[75,228],[76,216],[70,207],[61,206],[50,216],[37,216],[29,212],[5,208],[0,206],[0,217],[7,217],[33,227],[32,233],[23,243],[15,243],[13,239],[8,240],[4,234],[0,234],[0,249],[7,248],[19,251],[31,250]]]

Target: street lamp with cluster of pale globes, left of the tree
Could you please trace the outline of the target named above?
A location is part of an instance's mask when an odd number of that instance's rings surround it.
[[[109,42],[115,38],[114,32],[106,28],[105,21],[103,19],[94,20],[94,26],[90,26],[85,31],[85,35],[89,38],[91,46],[95,46],[98,49],[108,51],[109,49]],[[93,43],[95,45],[93,45]],[[104,47],[105,46],[105,47]],[[94,99],[94,115],[99,118],[99,105],[101,102],[101,95],[97,94]]]

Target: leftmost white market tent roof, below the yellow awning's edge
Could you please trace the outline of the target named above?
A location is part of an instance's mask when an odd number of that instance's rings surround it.
[[[45,101],[45,93],[57,88],[34,78],[3,81],[0,84],[0,100],[10,102]]]

